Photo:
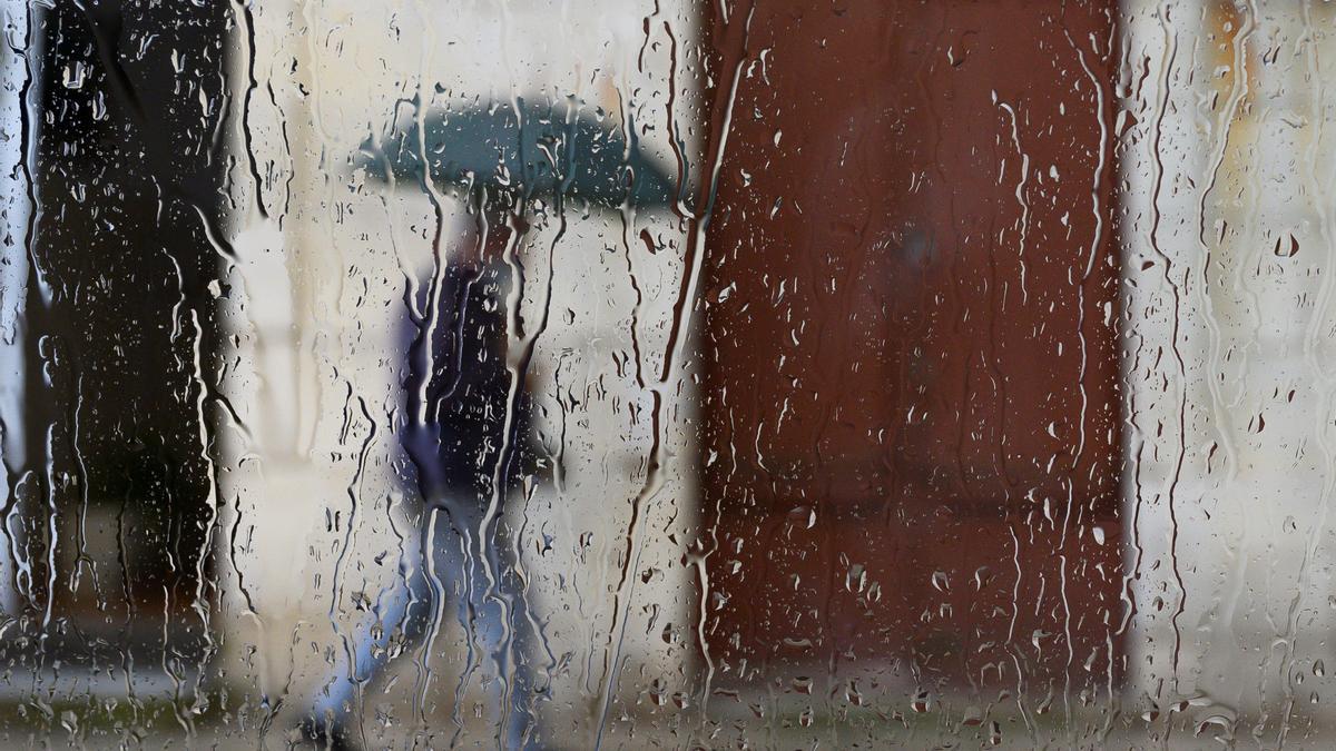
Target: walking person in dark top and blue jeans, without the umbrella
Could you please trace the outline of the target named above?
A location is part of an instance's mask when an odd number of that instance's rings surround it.
[[[505,510],[540,460],[529,389],[522,371],[508,365],[514,275],[504,253],[514,231],[504,223],[506,210],[484,203],[480,227],[457,241],[465,250],[405,291],[407,409],[399,445],[414,469],[421,522],[403,551],[399,587],[349,647],[354,669],[341,661],[313,708],[309,730],[331,747],[365,740],[351,727],[361,716],[358,690],[374,684],[395,655],[417,652],[428,667],[448,605],[469,640],[456,703],[481,678],[493,706],[502,707],[498,747],[537,742],[534,700],[542,687],[530,665],[534,633],[517,568],[521,531],[506,525]],[[458,735],[458,706],[453,715]]]

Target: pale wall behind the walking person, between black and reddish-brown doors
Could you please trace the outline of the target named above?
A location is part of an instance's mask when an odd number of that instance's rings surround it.
[[[663,24],[672,24],[683,56],[695,24],[689,8],[659,5],[656,16],[652,1],[255,5],[259,86],[250,124],[258,168],[269,176],[261,190],[271,215],[254,208],[254,183],[239,166],[234,195],[253,208],[234,229],[242,262],[227,279],[234,285],[228,326],[240,343],[224,388],[248,432],[223,428],[231,469],[222,493],[224,525],[239,531],[235,544],[224,543],[227,560],[235,561],[226,576],[238,680],[254,671],[263,691],[286,691],[290,704],[302,707],[327,672],[323,649],[342,648],[329,617],[335,576],[337,620],[350,633],[366,617],[351,607],[353,593],[374,597],[391,585],[398,536],[415,533],[402,517],[394,517],[394,528],[387,510],[398,505],[391,465],[403,461],[391,429],[403,378],[395,327],[406,278],[430,263],[434,219],[425,195],[367,182],[349,159],[387,124],[397,99],[460,103],[545,94],[554,100],[576,95],[617,119],[636,107],[637,123],[652,126],[644,144],[669,170],[668,94],[676,88],[685,102],[675,112],[685,131],[695,124],[688,106],[697,84],[687,61],[679,63],[679,80],[667,80]],[[689,148],[696,139],[685,135]],[[234,142],[240,146],[239,134]],[[526,524],[532,537],[524,557],[530,593],[549,647],[566,665],[553,679],[554,692],[568,703],[561,711],[569,722],[584,723],[578,734],[591,732],[588,723],[601,710],[616,643],[613,589],[652,445],[651,394],[636,385],[632,367],[617,362],[635,357],[635,315],[640,347],[651,358],[645,369],[657,369],[653,353],[667,341],[685,226],[667,210],[641,212],[625,233],[617,212],[568,219],[554,250],[552,325],[534,358],[548,416],[540,429],[553,440],[565,433],[562,484],[538,488],[522,508],[526,518],[512,521]],[[448,246],[464,220],[460,207],[446,206]],[[649,254],[641,229],[671,247]],[[554,223],[536,227],[536,251],[525,258],[537,271],[522,303],[530,318],[545,291],[556,230]],[[639,310],[628,258],[644,294]],[[665,486],[647,502],[649,544],[641,561],[643,571],[659,573],[631,604],[621,603],[629,613],[619,624],[629,633],[628,691],[643,688],[647,679],[635,671],[644,665],[683,687],[689,679],[691,645],[660,637],[665,625],[693,633],[687,621],[697,597],[693,573],[681,565],[695,520],[693,392],[689,381],[672,386],[664,438],[675,461]],[[365,464],[363,441],[370,441]],[[342,514],[339,528],[329,528],[329,513]],[[673,531],[679,535],[669,541]],[[550,551],[540,556],[533,541],[544,536]],[[449,673],[462,645],[457,632],[440,641],[445,657],[434,667]],[[254,660],[244,655],[250,643],[259,645]],[[441,686],[438,699],[448,706],[449,682]]]

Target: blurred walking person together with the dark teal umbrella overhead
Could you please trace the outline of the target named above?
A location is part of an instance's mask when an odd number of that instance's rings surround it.
[[[453,253],[438,227],[432,267],[405,291],[406,410],[398,430],[414,470],[410,490],[425,504],[405,559],[422,565],[401,572],[377,623],[350,640],[307,732],[331,747],[365,743],[354,727],[359,688],[394,653],[418,648],[429,656],[453,603],[469,635],[457,728],[466,682],[490,664],[502,707],[497,744],[525,748],[541,736],[536,702],[545,687],[532,664],[541,635],[517,567],[518,532],[504,518],[512,496],[544,465],[528,380],[545,311],[533,322],[520,315],[524,275],[516,253],[538,202],[558,216],[572,203],[665,206],[672,180],[639,148],[631,123],[623,130],[569,100],[424,112],[414,106],[414,115],[363,144],[357,164],[391,188],[426,191],[438,219],[442,202],[461,200],[474,220]],[[391,639],[399,639],[398,649]]]

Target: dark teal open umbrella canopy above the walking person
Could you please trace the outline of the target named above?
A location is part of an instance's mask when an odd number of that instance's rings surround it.
[[[418,123],[395,126],[379,143],[362,144],[357,166],[378,180],[420,184],[428,175],[442,188],[486,187],[512,200],[556,195],[605,207],[667,206],[676,180],[645,154],[633,123],[628,147],[611,118],[568,104],[476,104],[432,110]]]

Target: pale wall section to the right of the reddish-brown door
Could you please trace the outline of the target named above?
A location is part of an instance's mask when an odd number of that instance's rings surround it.
[[[1336,657],[1336,13],[1226,7],[1125,4],[1128,699],[1276,743]]]

